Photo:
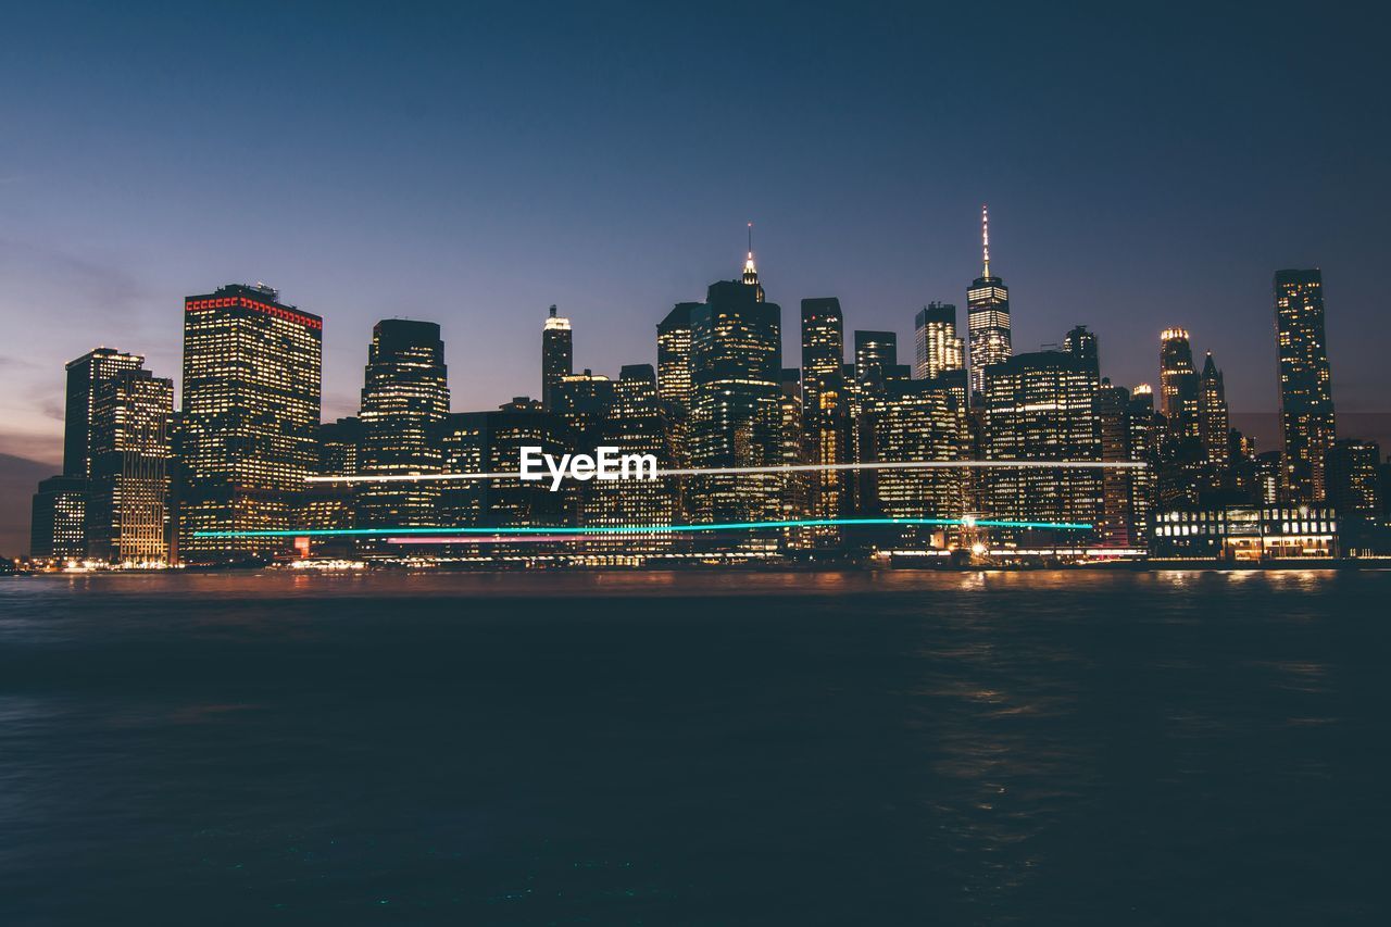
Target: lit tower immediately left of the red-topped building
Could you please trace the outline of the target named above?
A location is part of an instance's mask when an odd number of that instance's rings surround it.
[[[174,381],[124,370],[92,388],[88,555],[113,564],[168,560]]]

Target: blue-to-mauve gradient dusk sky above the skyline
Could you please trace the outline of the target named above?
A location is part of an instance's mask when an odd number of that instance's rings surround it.
[[[1321,266],[1340,412],[1384,412],[1391,207],[1380,32],[1214,4],[7,4],[0,452],[60,458],[63,363],[178,377],[185,294],[264,280],[325,319],[324,416],[373,322],[442,323],[458,411],[538,394],[739,270],[894,328],[993,269],[1015,351],[1166,326],[1237,412],[1276,409],[1270,277]],[[847,333],[849,334],[849,333]],[[791,335],[791,337],[789,337]],[[847,338],[849,340],[849,338]]]

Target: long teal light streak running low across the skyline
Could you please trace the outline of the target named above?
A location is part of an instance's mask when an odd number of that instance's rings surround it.
[[[306,528],[302,530],[193,532],[193,537],[402,537],[406,534],[664,534],[668,532],[755,530],[759,528],[830,528],[837,525],[940,525],[968,528],[1056,528],[1088,530],[1078,522],[1013,522],[978,518],[800,518],[786,522],[725,522],[722,525],[595,525],[591,528]]]

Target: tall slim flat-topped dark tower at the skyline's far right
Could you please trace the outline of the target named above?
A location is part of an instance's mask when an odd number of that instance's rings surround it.
[[[1323,458],[1335,440],[1321,271],[1276,271],[1276,347],[1289,494],[1292,501],[1321,502]]]

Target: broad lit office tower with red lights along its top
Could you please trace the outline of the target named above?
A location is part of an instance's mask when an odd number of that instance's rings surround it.
[[[323,327],[264,284],[185,298],[181,560],[263,560],[291,548],[285,539],[198,532],[296,526],[319,462]]]

